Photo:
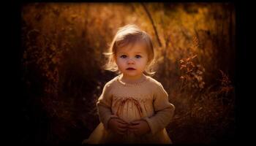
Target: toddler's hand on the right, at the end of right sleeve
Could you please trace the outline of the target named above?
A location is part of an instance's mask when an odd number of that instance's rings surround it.
[[[146,120],[135,120],[129,125],[129,131],[133,131],[136,135],[142,136],[143,134],[151,131]]]

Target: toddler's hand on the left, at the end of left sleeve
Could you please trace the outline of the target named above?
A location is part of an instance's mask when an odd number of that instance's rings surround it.
[[[116,134],[124,135],[127,131],[128,123],[126,123],[124,120],[121,120],[120,118],[110,118],[108,121],[108,127],[116,132]]]

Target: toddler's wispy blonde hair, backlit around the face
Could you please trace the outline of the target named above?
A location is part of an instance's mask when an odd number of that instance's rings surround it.
[[[151,40],[151,37],[145,32],[140,30],[138,26],[135,25],[127,25],[121,28],[118,28],[116,36],[113,38],[113,41],[108,47],[108,53],[103,53],[108,58],[107,63],[103,66],[105,70],[109,70],[111,72],[116,72],[117,74],[121,74],[118,70],[118,66],[116,65],[115,57],[116,50],[118,47],[124,47],[129,45],[130,43],[135,43],[137,41],[143,40],[147,45],[147,53],[148,53],[148,64],[146,66],[145,71],[143,72],[146,75],[153,76],[154,72],[154,47]]]

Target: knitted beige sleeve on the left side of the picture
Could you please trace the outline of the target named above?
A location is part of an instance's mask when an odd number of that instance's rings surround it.
[[[97,101],[99,121],[103,123],[106,129],[108,129],[108,120],[110,120],[110,118],[117,118],[117,116],[113,115],[111,112],[111,103],[112,94],[110,93],[110,85],[107,83]]]

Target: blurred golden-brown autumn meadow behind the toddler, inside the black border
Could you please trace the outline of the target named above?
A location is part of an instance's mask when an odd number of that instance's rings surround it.
[[[230,3],[28,3],[21,8],[22,143],[81,144],[116,76],[102,69],[119,27],[151,35],[157,73],[176,106],[175,144],[235,137],[236,9]]]

